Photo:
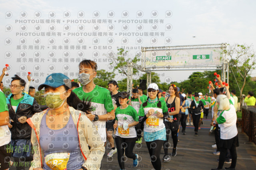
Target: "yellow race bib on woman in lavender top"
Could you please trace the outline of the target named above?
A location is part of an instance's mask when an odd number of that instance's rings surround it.
[[[46,164],[52,170],[66,170],[70,153],[52,153],[44,157]]]

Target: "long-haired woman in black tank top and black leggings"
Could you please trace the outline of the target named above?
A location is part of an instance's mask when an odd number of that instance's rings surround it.
[[[165,98],[165,102],[168,108],[168,115],[170,119],[173,119],[172,122],[166,119],[164,121],[164,125],[166,128],[166,141],[164,141],[164,158],[162,159],[164,162],[170,161],[170,156],[168,155],[169,146],[169,135],[172,134],[172,156],[176,156],[177,154],[177,144],[178,144],[178,129],[179,129],[179,121],[178,121],[178,113],[180,112],[180,95],[178,93],[178,89],[176,85],[171,84],[168,88],[170,96]]]

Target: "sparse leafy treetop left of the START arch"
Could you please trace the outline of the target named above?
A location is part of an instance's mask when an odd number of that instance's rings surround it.
[[[126,75],[127,77],[127,68],[128,63],[138,63],[140,61],[140,58],[138,55],[135,55],[135,57],[129,57],[128,51],[124,51],[123,48],[117,49],[118,53],[110,53],[107,55],[109,59],[111,59],[110,65],[114,67],[114,71],[118,70],[118,73],[122,73]],[[104,54],[106,56],[106,54]],[[133,69],[133,75],[138,73],[137,69]]]

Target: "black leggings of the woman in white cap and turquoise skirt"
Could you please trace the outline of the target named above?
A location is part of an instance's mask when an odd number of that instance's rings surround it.
[[[160,151],[163,143],[164,140],[154,140],[151,142],[146,142],[148,152],[150,154],[150,161],[156,170],[161,170]]]

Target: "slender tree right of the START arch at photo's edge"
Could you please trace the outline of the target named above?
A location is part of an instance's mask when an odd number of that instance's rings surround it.
[[[255,51],[253,51],[252,45],[228,44],[227,49],[224,50],[224,54],[230,57],[229,64],[233,69],[233,72],[239,73],[239,75],[242,77],[243,84],[240,91],[240,96],[242,96],[242,91],[246,83],[246,77],[250,71],[255,69]]]

